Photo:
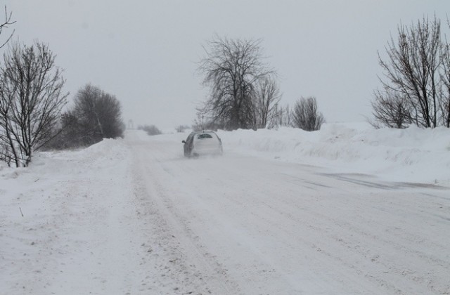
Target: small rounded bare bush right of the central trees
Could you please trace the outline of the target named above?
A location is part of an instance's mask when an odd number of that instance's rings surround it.
[[[321,129],[325,122],[323,114],[317,110],[316,98],[300,98],[293,110],[293,126],[304,131]]]

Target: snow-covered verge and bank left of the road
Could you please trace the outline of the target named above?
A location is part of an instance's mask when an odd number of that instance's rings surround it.
[[[26,169],[3,166],[0,294],[137,293],[129,291],[141,285],[132,276],[142,244],[129,243],[136,226],[130,159],[119,139],[38,152]]]

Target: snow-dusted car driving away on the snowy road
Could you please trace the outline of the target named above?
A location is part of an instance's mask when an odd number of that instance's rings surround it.
[[[222,155],[222,140],[214,131],[192,132],[184,143],[184,157],[199,157],[200,155]]]

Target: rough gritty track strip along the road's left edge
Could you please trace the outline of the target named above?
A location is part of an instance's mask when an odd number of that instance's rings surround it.
[[[145,147],[145,145],[141,145]],[[160,239],[160,251],[155,251],[160,263],[158,271],[169,275],[160,284],[172,284],[174,294],[238,294],[236,284],[230,281],[226,270],[214,256],[200,244],[198,235],[189,228],[168,197],[170,192],[160,183],[162,174],[169,173],[157,157],[145,155],[144,149],[135,145],[135,185],[141,198],[142,211],[151,211],[150,222],[155,223],[155,236]],[[149,165],[150,166],[147,166]],[[140,213],[142,214],[142,213]],[[155,244],[155,242],[150,242]],[[167,259],[169,263],[167,263]],[[155,286],[156,287],[156,286]],[[156,287],[158,289],[158,287]]]

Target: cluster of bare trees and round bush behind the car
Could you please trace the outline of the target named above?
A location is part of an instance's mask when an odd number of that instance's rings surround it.
[[[210,98],[198,108],[194,129],[320,129],[324,119],[315,98],[297,102],[297,112],[280,107],[276,72],[262,61],[261,40],[215,37],[207,45],[199,70],[205,75],[203,84],[210,87]]]

